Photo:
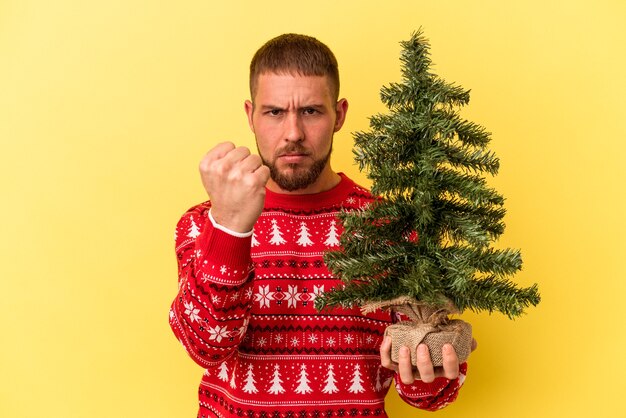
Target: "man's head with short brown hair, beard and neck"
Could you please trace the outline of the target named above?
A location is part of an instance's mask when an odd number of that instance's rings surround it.
[[[348,102],[338,93],[337,60],[315,38],[281,35],[257,51],[245,110],[270,190],[317,193],[339,181],[329,158]]]

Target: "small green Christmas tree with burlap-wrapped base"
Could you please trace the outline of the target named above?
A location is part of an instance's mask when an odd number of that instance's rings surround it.
[[[343,282],[316,299],[316,307],[392,309],[409,320],[387,328],[392,359],[401,346],[424,342],[441,365],[451,343],[461,361],[471,351],[471,326],[449,315],[487,310],[509,318],[540,300],[537,285],[519,288],[518,250],[496,249],[504,232],[504,198],[484,175],[496,175],[490,134],[463,119],[469,90],[430,71],[421,30],[402,42],[402,82],[381,89],[387,114],[355,134],[355,158],[379,197],[363,210],[344,212],[341,249],[325,254]],[[414,360],[413,360],[414,361]]]

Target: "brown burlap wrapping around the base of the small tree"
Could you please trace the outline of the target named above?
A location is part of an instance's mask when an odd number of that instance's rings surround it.
[[[433,366],[443,365],[441,348],[452,344],[459,362],[464,362],[472,352],[472,326],[460,319],[449,319],[448,315],[458,313],[452,304],[436,308],[417,302],[415,299],[402,297],[391,301],[373,302],[363,306],[364,313],[376,309],[391,309],[406,315],[410,320],[390,325],[385,336],[391,337],[391,360],[398,362],[401,347],[411,351],[411,363],[416,366],[417,346],[428,346]]]

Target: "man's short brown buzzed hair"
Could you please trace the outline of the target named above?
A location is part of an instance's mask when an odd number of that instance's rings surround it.
[[[250,62],[250,96],[261,74],[327,76],[330,93],[339,97],[339,69],[330,48],[312,36],[286,33],[267,41]]]

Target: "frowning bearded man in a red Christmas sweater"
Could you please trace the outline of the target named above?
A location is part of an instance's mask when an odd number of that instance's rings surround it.
[[[334,55],[311,37],[272,39],[252,60],[250,94],[259,155],[232,143],[209,151],[200,174],[210,201],[177,225],[170,324],[206,369],[198,416],[386,416],[394,378],[411,405],[447,405],[466,370],[451,346],[441,370],[425,346],[401,350],[394,364],[382,337],[391,314],[313,306],[339,284],[322,260],[339,245],[338,211],[373,200],[331,168],[333,135],[348,111]]]

